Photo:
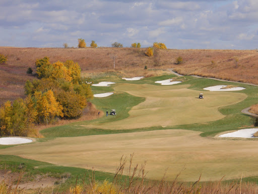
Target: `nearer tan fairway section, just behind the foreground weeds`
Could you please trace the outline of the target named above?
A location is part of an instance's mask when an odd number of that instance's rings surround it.
[[[180,180],[202,181],[257,175],[258,141],[218,140],[200,132],[160,130],[125,134],[62,137],[1,150],[1,154],[52,164],[115,172],[122,155],[135,153],[134,164],[147,161],[148,178],[160,179],[168,167],[172,180],[184,168]]]

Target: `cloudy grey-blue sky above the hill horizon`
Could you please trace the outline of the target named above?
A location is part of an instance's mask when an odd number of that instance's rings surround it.
[[[0,46],[256,49],[257,0],[0,0]]]

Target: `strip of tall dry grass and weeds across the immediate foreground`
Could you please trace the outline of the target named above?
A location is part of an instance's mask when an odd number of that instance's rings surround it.
[[[249,182],[240,181],[223,182],[223,177],[219,181],[214,182],[201,182],[201,175],[196,182],[183,183],[178,182],[177,174],[173,181],[166,181],[166,172],[159,181],[146,179],[145,171],[146,162],[142,165],[136,164],[133,166],[133,156],[131,155],[130,161],[127,165],[126,157],[121,157],[119,165],[116,168],[113,180],[97,181],[95,178],[95,171],[92,169],[90,174],[84,174],[80,179],[70,186],[66,191],[59,192],[60,186],[56,185],[58,191],[55,193],[70,193],[70,194],[256,194],[258,192],[258,185]],[[126,173],[125,173],[126,172]],[[124,176],[127,175],[127,176]],[[51,192],[45,189],[37,188],[26,190],[26,187],[20,187],[19,184],[22,180],[23,172],[18,174],[15,178],[5,178],[0,182],[0,193],[7,194],[26,194],[26,193],[54,193],[53,188]],[[79,181],[80,180],[80,181]]]

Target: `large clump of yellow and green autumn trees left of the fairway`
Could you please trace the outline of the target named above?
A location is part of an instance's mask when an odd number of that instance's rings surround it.
[[[78,63],[68,60],[51,64],[44,57],[35,65],[38,79],[26,81],[26,99],[7,101],[0,108],[1,136],[27,136],[34,131],[35,124],[79,118],[87,102],[93,99]]]

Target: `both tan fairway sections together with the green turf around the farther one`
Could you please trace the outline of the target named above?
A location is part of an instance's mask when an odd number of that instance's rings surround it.
[[[116,84],[92,87],[94,92],[115,93],[92,103],[103,112],[116,109],[116,116],[44,129],[41,133],[46,138],[21,146],[1,146],[0,154],[86,169],[94,166],[97,171],[115,173],[120,157],[135,153],[134,164],[146,160],[151,179],[160,179],[167,167],[169,180],[184,167],[181,181],[196,181],[201,173],[202,181],[219,180],[224,175],[225,179],[237,179],[242,173],[244,177],[257,176],[258,139],[212,136],[251,125],[241,110],[257,103],[258,87],[237,83],[246,89],[207,91],[203,88],[230,82],[191,76],[176,85],[154,83],[168,78],[103,79]],[[205,98],[199,99],[199,93]]]

